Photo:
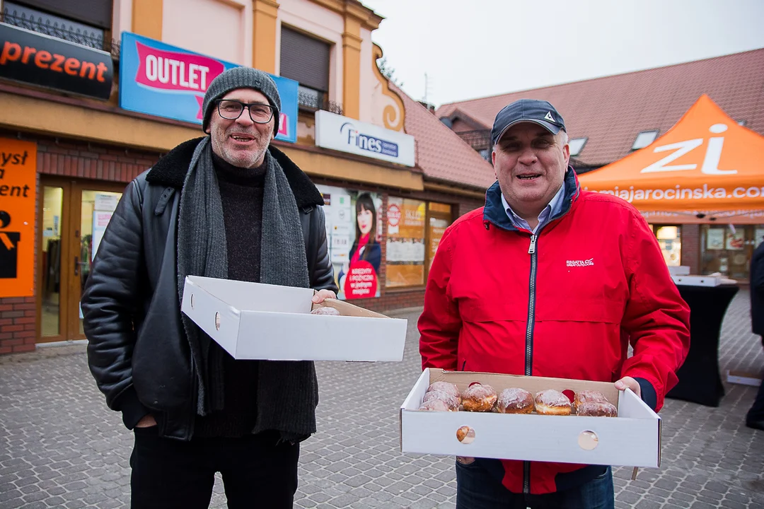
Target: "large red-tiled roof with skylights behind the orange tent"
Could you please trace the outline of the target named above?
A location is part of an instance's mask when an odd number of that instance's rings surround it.
[[[588,138],[578,162],[602,166],[630,153],[641,131],[664,134],[704,93],[730,117],[764,134],[764,49],[453,102],[438,108],[435,116],[461,117],[490,129],[510,102],[545,99],[565,118],[571,139]]]

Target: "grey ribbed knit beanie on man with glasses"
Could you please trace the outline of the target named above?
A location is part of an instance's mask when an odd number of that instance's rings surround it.
[[[207,132],[207,127],[209,127],[209,118],[212,115],[212,110],[215,109],[215,101],[236,89],[255,89],[257,92],[261,92],[268,99],[268,103],[276,108],[274,111],[274,130],[279,129],[281,98],[274,80],[267,73],[258,69],[234,67],[219,74],[207,87],[202,103],[202,110],[204,111],[202,130],[204,132]]]

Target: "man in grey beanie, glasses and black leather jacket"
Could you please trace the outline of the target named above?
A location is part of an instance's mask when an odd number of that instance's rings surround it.
[[[89,367],[134,430],[132,507],[208,507],[215,472],[229,507],[292,507],[299,442],[316,431],[313,363],[235,360],[180,298],[186,275],[335,298],[323,200],[270,146],[270,76],[223,72],[202,111],[209,136],[134,179],[105,231],[82,298]]]

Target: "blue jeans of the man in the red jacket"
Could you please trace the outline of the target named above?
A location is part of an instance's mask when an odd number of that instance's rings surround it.
[[[578,488],[545,495],[513,493],[480,466],[456,463],[456,509],[613,509],[613,471]]]

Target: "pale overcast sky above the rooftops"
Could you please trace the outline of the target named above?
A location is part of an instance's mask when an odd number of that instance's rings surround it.
[[[403,90],[424,98],[427,73],[435,105],[764,47],[764,0],[361,2]]]

